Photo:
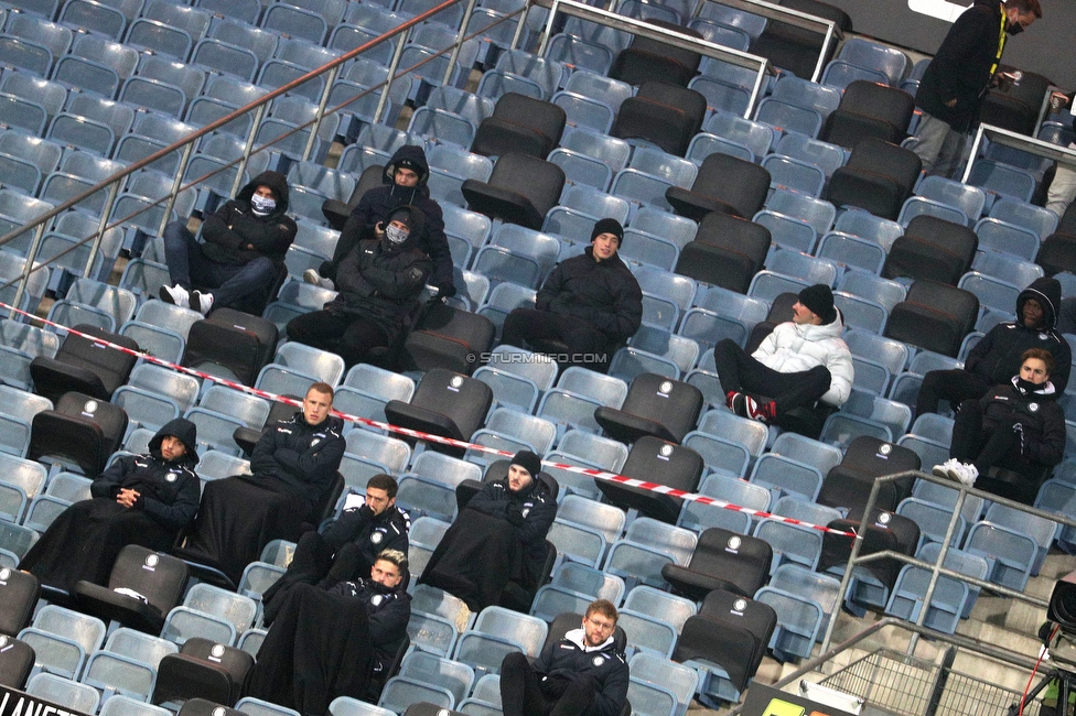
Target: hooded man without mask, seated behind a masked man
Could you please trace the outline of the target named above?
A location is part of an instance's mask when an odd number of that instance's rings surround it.
[[[426,185],[429,178],[430,165],[421,147],[405,144],[396,150],[392,159],[385,165],[383,185],[363,194],[358,205],[352,209],[340,232],[332,260],[322,263],[318,271],[309,269],[303,274],[303,280],[326,288],[338,288],[333,285],[337,280],[336,272],[355,245],[376,238],[378,224],[386,221],[394,209],[410,205],[418,207],[426,217],[426,224],[416,237],[416,246],[433,260],[429,282],[437,286],[439,297],[454,296],[456,290],[452,280],[452,252],[449,240],[444,237],[441,207],[430,198],[430,189]]]

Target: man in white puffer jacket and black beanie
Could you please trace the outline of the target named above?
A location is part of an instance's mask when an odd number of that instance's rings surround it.
[[[852,390],[852,355],[833,292],[815,284],[799,292],[793,319],[773,329],[752,355],[725,338],[713,348],[725,403],[736,415],[779,423],[795,408],[821,401],[840,408]]]

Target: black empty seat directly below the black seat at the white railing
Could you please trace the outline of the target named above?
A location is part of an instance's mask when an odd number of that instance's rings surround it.
[[[646,82],[621,105],[610,134],[645,140],[684,156],[702,127],[706,109],[706,97],[693,89]]]

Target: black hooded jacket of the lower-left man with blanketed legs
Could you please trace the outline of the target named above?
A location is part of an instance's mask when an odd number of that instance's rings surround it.
[[[115,500],[120,488],[140,493],[134,509],[146,510],[172,529],[186,527],[198,511],[202,487],[194,466],[198,462],[194,423],[176,417],[157,431],[150,441],[150,452],[143,455],[118,457],[89,486],[94,498]],[[161,456],[161,442],[166,435],[180,438],[186,452],[177,460]]]

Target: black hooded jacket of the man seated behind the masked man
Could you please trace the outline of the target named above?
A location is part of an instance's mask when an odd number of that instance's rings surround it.
[[[413,188],[397,186],[394,180],[396,165],[402,160],[410,160],[418,164],[419,183]],[[346,249],[362,240],[374,238],[374,227],[400,206],[417,206],[426,215],[426,226],[419,231],[418,248],[433,260],[430,283],[435,285],[444,295],[454,295],[452,281],[452,252],[449,240],[444,236],[444,218],[441,207],[430,198],[427,181],[430,178],[430,166],[426,161],[426,152],[421,147],[405,144],[396,150],[392,159],[385,165],[381,175],[384,186],[369,189],[352,209],[352,215],[340,232],[340,247]],[[337,252],[340,256],[340,252]]]

